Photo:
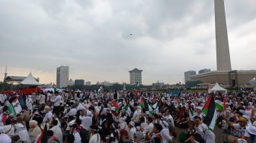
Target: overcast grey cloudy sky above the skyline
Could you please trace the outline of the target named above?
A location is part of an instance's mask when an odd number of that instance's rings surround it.
[[[0,81],[8,75],[142,84],[216,70],[213,1],[0,0]],[[256,1],[225,1],[232,69],[256,69]],[[132,34],[132,35],[130,35]]]

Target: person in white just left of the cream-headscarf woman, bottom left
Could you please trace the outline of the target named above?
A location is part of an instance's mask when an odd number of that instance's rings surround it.
[[[17,124],[14,125],[15,127],[15,135],[19,135],[22,141],[27,141],[31,143],[30,137],[27,133],[27,129],[25,127],[23,118],[21,115],[17,115]]]

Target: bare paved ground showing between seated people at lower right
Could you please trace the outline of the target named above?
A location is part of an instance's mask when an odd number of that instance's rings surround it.
[[[177,132],[178,132],[178,135],[181,133],[181,132],[187,132],[187,129],[178,129],[178,128],[176,128],[176,130],[177,130]],[[222,133],[223,132],[223,130],[222,129],[219,129],[219,128],[215,128],[214,130],[213,130],[213,132],[214,132],[214,134],[215,134],[215,136],[216,136],[216,139],[215,139],[215,142],[223,142],[223,141],[227,141],[227,139],[228,139],[228,134],[225,134],[225,133]],[[174,138],[174,140],[172,141],[172,142],[180,142],[180,141],[178,141],[178,138]]]

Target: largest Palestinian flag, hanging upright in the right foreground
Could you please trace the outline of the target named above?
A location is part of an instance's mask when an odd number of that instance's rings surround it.
[[[216,114],[216,105],[213,94],[210,95],[206,104],[203,106],[203,113],[206,115],[203,123],[206,126],[209,126],[210,129],[214,129],[216,124],[217,114]]]

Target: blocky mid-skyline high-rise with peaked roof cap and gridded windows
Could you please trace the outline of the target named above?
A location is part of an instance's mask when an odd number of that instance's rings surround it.
[[[130,84],[142,84],[142,70],[139,70],[138,68],[134,68],[130,72]]]

